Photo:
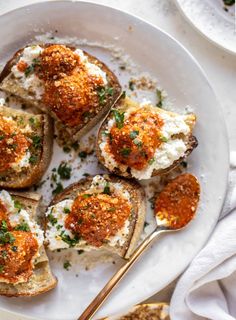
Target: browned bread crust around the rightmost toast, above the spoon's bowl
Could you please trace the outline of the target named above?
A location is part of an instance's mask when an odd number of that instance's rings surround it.
[[[134,102],[132,102],[130,99],[128,99],[128,100],[129,100],[130,104],[134,104]],[[114,105],[113,109],[114,108],[118,108],[122,104],[122,102],[123,102],[122,98],[118,99],[118,101]],[[159,111],[160,112],[168,112],[168,111],[165,111],[165,110],[162,110],[162,109],[159,109]],[[172,112],[168,112],[168,113],[171,114]],[[112,174],[116,174],[118,176],[122,176],[122,177],[125,177],[125,178],[128,178],[128,179],[132,179],[133,177],[131,175],[130,168],[127,168],[127,171],[123,172],[119,168],[114,168],[113,170],[111,170],[110,168],[108,168],[105,165],[105,160],[104,160],[104,157],[102,156],[102,152],[101,152],[101,149],[100,149],[100,144],[102,142],[102,132],[105,131],[107,122],[111,117],[112,117],[112,114],[111,114],[111,112],[109,112],[107,114],[107,116],[105,117],[105,119],[103,120],[103,122],[101,123],[101,126],[100,126],[100,128],[98,130],[97,141],[96,141],[96,154],[97,154],[98,161],[103,165],[103,167],[105,167],[107,170],[109,170]],[[193,115],[193,114],[189,115],[189,119],[186,122],[189,125],[189,127],[191,129],[191,132],[192,132],[193,127],[194,127],[195,122],[196,122],[196,116]],[[185,155],[183,157],[179,158],[178,160],[174,161],[172,163],[172,165],[169,166],[168,168],[160,169],[160,170],[153,170],[152,177],[161,176],[163,174],[169,173],[170,171],[174,170],[198,146],[198,141],[197,141],[196,137],[194,137],[192,135],[192,133],[190,133],[186,137],[183,137],[182,135],[180,135],[180,138],[182,138],[184,140],[184,142],[185,142],[185,144],[187,146],[187,149],[185,151]]]

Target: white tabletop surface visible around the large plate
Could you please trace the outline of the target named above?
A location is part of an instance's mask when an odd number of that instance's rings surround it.
[[[34,2],[36,1],[0,0],[0,14]],[[175,6],[175,0],[97,0],[93,2],[125,10],[157,25],[179,40],[195,56],[205,70],[222,105],[230,148],[236,150],[236,56],[224,52],[198,34],[181,16]],[[216,141],[218,134],[216,132]],[[169,289],[159,293],[155,299],[168,299],[172,288],[173,284]],[[11,316],[5,312],[0,313],[0,319],[23,320],[21,317]]]

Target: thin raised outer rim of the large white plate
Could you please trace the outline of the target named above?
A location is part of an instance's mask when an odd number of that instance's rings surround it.
[[[176,3],[177,3],[178,0],[176,0]],[[166,32],[165,30],[163,30],[162,28],[156,26],[155,24],[149,22],[149,21],[146,21],[145,19],[137,16],[136,14],[132,14],[130,12],[127,12],[126,10],[123,10],[123,9],[118,9],[116,7],[113,7],[111,5],[105,5],[105,4],[100,4],[100,3],[96,3],[96,2],[93,2],[93,1],[86,1],[86,0],[44,0],[44,1],[36,1],[36,2],[33,2],[33,3],[30,3],[30,4],[26,4],[26,5],[22,5],[22,6],[19,6],[13,10],[10,10],[10,11],[7,11],[3,14],[0,14],[0,19],[2,17],[5,17],[5,16],[10,16],[10,15],[14,15],[15,12],[17,11],[21,11],[21,10],[25,10],[25,9],[30,9],[31,7],[33,6],[37,6],[37,5],[54,5],[54,3],[64,3],[66,5],[80,5],[80,3],[82,3],[83,5],[90,5],[90,6],[94,6],[94,7],[103,7],[105,9],[112,9],[112,10],[115,10],[117,11],[119,14],[126,14],[128,17],[131,17],[131,18],[135,18],[139,21],[141,21],[142,23],[144,24],[147,24],[149,26],[151,26],[152,28],[155,28],[157,29],[159,32],[161,32],[162,34],[164,34],[167,38],[169,38],[172,42],[174,42],[177,46],[181,47],[181,49],[185,52],[186,55],[188,55],[188,57],[191,59],[192,63],[195,64],[195,66],[197,67],[197,69],[199,70],[199,72],[201,73],[202,77],[205,79],[206,81],[206,84],[208,85],[210,91],[212,92],[212,95],[214,96],[216,102],[217,102],[217,108],[218,108],[218,112],[219,112],[219,115],[221,116],[221,122],[222,122],[222,133],[223,135],[225,136],[225,140],[226,140],[226,145],[225,145],[225,148],[226,148],[226,151],[227,153],[225,154],[225,178],[224,178],[224,193],[222,194],[222,199],[221,199],[221,206],[220,206],[220,209],[219,209],[219,213],[218,213],[218,218],[220,216],[220,212],[224,206],[224,201],[225,201],[225,197],[226,197],[226,194],[227,194],[227,185],[228,185],[228,176],[229,176],[229,169],[230,169],[230,162],[229,162],[229,138],[228,138],[228,131],[227,131],[227,126],[226,126],[226,121],[225,121],[225,117],[224,117],[224,113],[223,113],[223,108],[222,108],[222,105],[221,103],[219,102],[219,99],[215,93],[215,90],[213,89],[209,79],[208,79],[208,76],[206,74],[206,72],[204,71],[203,67],[201,66],[201,64],[197,61],[197,59],[194,57],[194,55],[190,52],[189,49],[187,49],[179,40],[177,40],[176,38],[174,38],[174,36],[172,36],[171,34],[169,34],[168,32]],[[181,10],[182,11],[182,10]],[[200,32],[200,30],[199,30]],[[212,41],[213,43],[215,43],[214,41]],[[226,49],[225,49],[226,50]],[[212,229],[210,230],[205,242],[203,243],[202,247],[204,247],[204,245],[207,243],[208,239],[210,238],[210,236],[212,235],[212,232],[214,231],[215,229],[215,226],[217,224],[218,220],[216,220],[214,222],[214,224],[212,225]],[[200,249],[201,250],[201,249]],[[198,252],[196,252],[195,255],[197,255]],[[187,268],[187,266],[181,271],[179,272],[178,274],[176,274],[175,276],[173,277],[170,277],[170,280],[168,282],[166,282],[165,285],[161,286],[161,289],[159,291],[161,291],[163,288],[165,288],[166,286],[168,286],[168,284],[170,284],[173,280],[175,280],[180,274],[182,274],[184,272],[184,270]],[[158,291],[158,292],[159,292]],[[149,297],[147,297],[146,299],[148,299]],[[5,311],[5,312],[8,312],[9,314],[11,315],[15,315],[15,316],[21,316],[21,317],[24,317],[24,319],[26,320],[44,320],[44,318],[41,318],[41,317],[35,317],[35,316],[29,316],[29,315],[25,315],[24,313],[21,313],[21,312],[15,312],[15,311],[9,311],[9,309],[7,308],[4,308],[2,306],[0,306],[0,311]]]

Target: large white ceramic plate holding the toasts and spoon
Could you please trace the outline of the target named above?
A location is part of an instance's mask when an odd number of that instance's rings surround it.
[[[158,78],[177,109],[183,112],[186,105],[191,105],[198,117],[195,133],[199,147],[189,159],[189,170],[198,176],[202,186],[197,218],[183,232],[153,244],[99,311],[97,317],[101,317],[139,303],[165,287],[187,267],[204,245],[217,222],[226,191],[227,134],[214,92],[194,58],[163,31],[112,8],[85,2],[53,1],[3,15],[0,17],[0,61],[5,62],[19,47],[31,42],[35,35],[55,30],[60,37],[86,38],[90,43],[105,42],[122,48],[141,71]],[[112,60],[111,51],[96,46],[85,48],[106,61],[123,85],[127,83],[129,75],[119,72],[119,59]],[[63,158],[65,154],[55,146],[48,172]],[[80,165],[79,160],[76,161]],[[73,171],[73,180],[78,180],[84,172],[96,173],[101,169],[96,160],[91,159]],[[46,184],[43,191],[48,197],[51,193],[47,192],[47,187]],[[72,269],[66,271],[63,269],[65,255],[70,256],[71,253],[51,255],[59,280],[54,291],[31,299],[1,298],[0,308],[44,320],[75,319],[122,263],[115,259],[115,265],[100,263],[86,271],[81,262],[85,258],[76,253],[76,257],[70,257]]]

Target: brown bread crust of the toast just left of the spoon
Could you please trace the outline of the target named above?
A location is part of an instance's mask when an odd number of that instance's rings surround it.
[[[132,216],[129,226],[129,234],[126,241],[122,247],[111,247],[109,244],[104,244],[102,248],[116,252],[121,257],[128,259],[133,250],[135,249],[140,235],[143,231],[145,215],[146,215],[146,203],[145,203],[145,193],[143,188],[134,180],[125,180],[111,175],[104,175],[107,181],[113,183],[121,183],[125,190],[127,190],[131,195],[132,204]],[[65,199],[75,199],[79,192],[84,192],[89,189],[92,182],[92,177],[88,177],[74,183],[64,189],[60,194],[56,195],[50,206],[55,205]]]

